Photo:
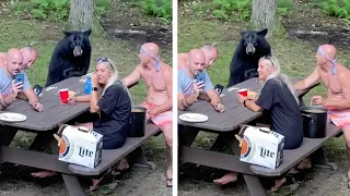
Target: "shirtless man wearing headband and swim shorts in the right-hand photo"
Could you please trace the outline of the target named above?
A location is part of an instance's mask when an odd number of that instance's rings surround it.
[[[342,130],[350,166],[350,71],[336,62],[336,58],[337,49],[332,45],[320,46],[316,54],[316,69],[306,78],[294,84],[294,88],[307,89],[322,79],[327,88],[327,97],[314,96],[312,100],[327,108],[330,121]],[[301,169],[303,168],[311,168],[311,162],[302,163]],[[350,187],[350,170],[348,170],[348,187]]]

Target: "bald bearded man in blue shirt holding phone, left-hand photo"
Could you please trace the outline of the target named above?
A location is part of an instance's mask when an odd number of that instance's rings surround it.
[[[25,95],[25,98],[28,99],[28,103],[36,111],[42,111],[43,106],[39,103],[37,96],[35,95],[33,88],[31,87],[30,81],[23,70],[23,54],[19,49],[10,49],[7,52],[4,59],[4,65],[0,68],[0,90],[1,96],[7,97],[11,95],[12,91],[12,81],[15,78],[15,75],[23,73],[23,88],[19,91]],[[19,84],[16,84],[19,85]],[[16,95],[16,97],[19,96]],[[21,96],[22,97],[22,96]]]

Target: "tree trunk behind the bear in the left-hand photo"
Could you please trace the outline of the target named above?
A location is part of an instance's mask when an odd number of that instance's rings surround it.
[[[74,30],[91,29],[93,25],[94,10],[94,0],[70,0],[70,26]]]

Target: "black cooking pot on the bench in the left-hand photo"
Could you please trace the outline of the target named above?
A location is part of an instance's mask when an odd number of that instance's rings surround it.
[[[131,124],[128,132],[128,137],[144,136],[145,112],[147,109],[143,107],[132,107],[130,121]]]

